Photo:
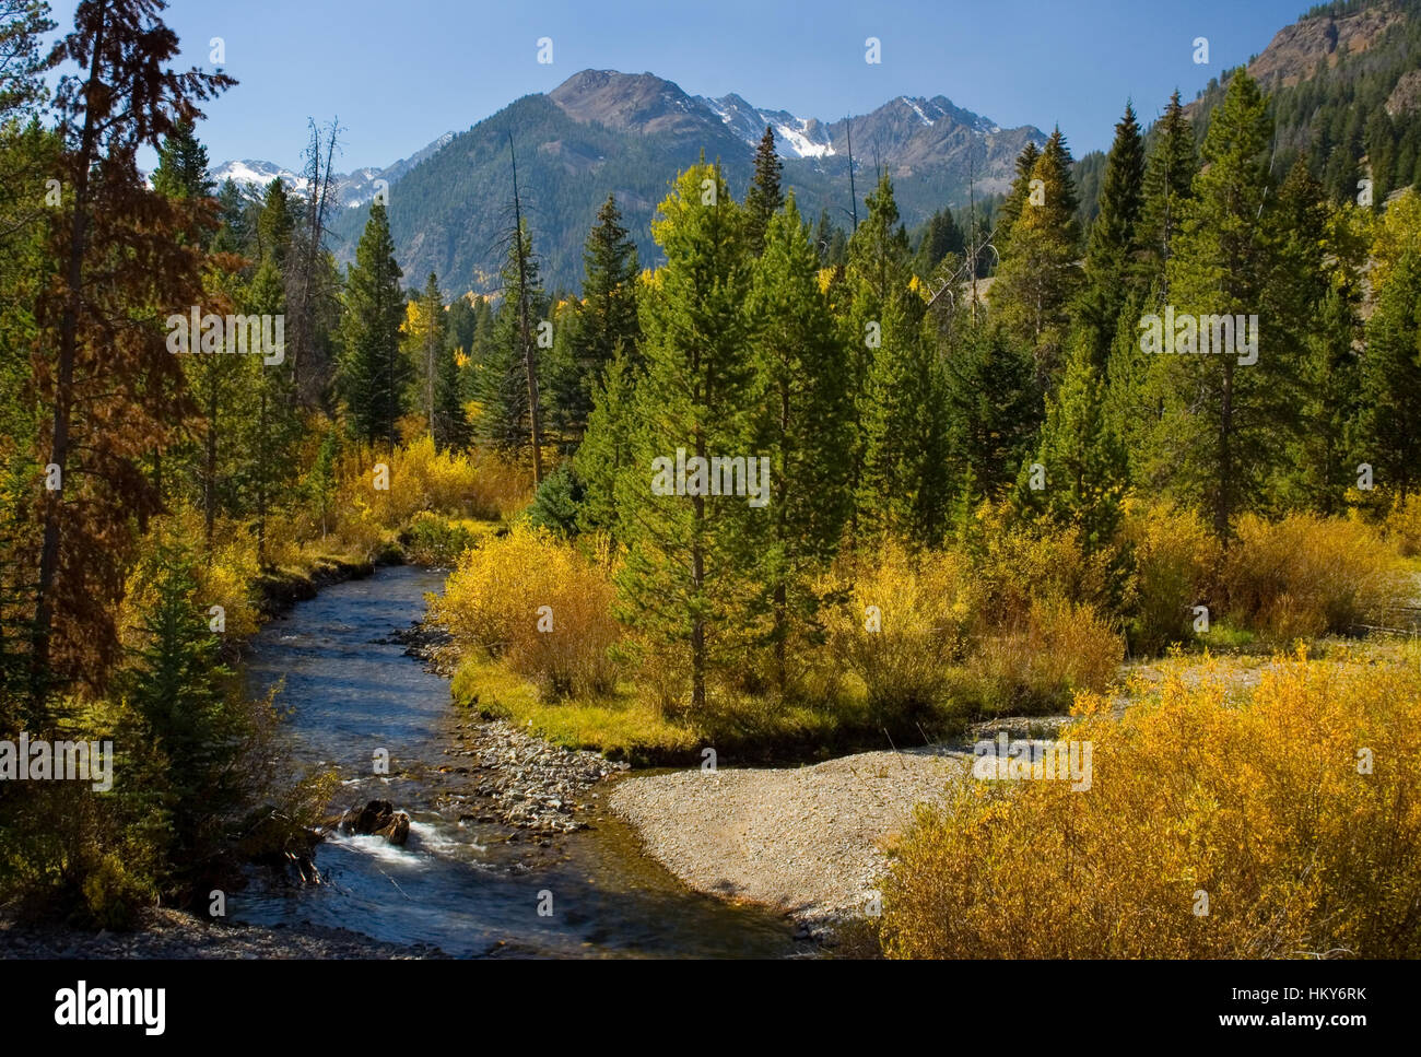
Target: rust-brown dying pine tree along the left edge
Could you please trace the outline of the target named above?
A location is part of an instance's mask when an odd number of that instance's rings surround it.
[[[67,678],[102,681],[118,649],[125,551],[162,504],[142,462],[195,413],[162,330],[136,320],[152,318],[153,305],[199,301],[199,247],[215,219],[207,200],[149,192],[138,152],[200,118],[199,104],[233,80],[176,71],[176,54],[178,37],[149,0],[84,0],[54,53],[87,72],[55,92],[64,152],[54,175],[65,192],[47,230],[61,266],[36,298],[34,376],[47,419],[37,465],[54,466],[63,483],[41,504],[37,703]]]

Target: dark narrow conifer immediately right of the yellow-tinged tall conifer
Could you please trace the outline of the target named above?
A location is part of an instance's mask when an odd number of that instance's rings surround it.
[[[1144,141],[1135,111],[1127,104],[1106,158],[1100,213],[1090,229],[1086,280],[1077,307],[1077,320],[1086,332],[1091,358],[1101,371],[1108,369],[1107,355],[1115,338],[1115,322],[1135,270],[1135,226],[1144,203]]]

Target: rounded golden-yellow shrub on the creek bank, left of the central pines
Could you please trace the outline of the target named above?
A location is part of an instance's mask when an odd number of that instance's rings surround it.
[[[550,695],[608,693],[608,651],[621,638],[610,565],[603,541],[583,550],[517,523],[463,553],[429,615],[462,649],[504,661]]]

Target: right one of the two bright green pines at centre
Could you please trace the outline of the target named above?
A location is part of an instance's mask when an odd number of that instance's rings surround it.
[[[818,287],[818,254],[794,196],[772,217],[749,300],[755,364],[764,388],[757,452],[770,457],[769,547],[757,563],[772,607],[774,682],[789,690],[787,642],[813,632],[813,577],[834,555],[853,509],[848,358]]]

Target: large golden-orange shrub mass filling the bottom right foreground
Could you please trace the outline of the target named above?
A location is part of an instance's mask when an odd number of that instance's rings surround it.
[[[955,781],[892,850],[884,950],[1421,956],[1414,659],[1277,658],[1239,698],[1218,669],[1118,720],[1083,695],[1060,737],[1091,746],[1088,788]]]

